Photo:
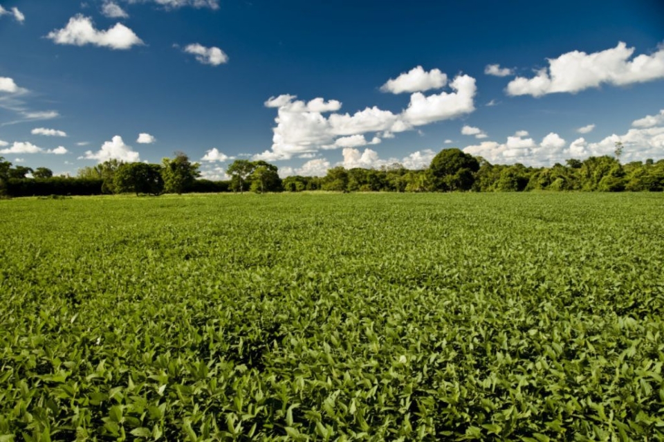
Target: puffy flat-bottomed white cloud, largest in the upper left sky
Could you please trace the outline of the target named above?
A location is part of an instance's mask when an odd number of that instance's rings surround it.
[[[69,19],[67,26],[53,30],[47,38],[56,44],[73,44],[84,46],[92,44],[111,49],[129,49],[131,46],[143,44],[142,40],[133,33],[133,30],[123,24],[116,23],[108,30],[97,30],[90,17],[75,15]]]

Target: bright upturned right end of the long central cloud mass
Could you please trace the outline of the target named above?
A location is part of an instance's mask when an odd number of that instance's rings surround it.
[[[477,87],[473,77],[459,75],[450,83],[450,87],[455,92],[441,92],[429,96],[416,92],[411,95],[408,108],[403,112],[404,120],[412,125],[420,126],[456,118],[475,110],[473,98]]]

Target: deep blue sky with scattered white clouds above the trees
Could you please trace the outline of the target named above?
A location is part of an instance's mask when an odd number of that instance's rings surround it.
[[[664,158],[664,1],[0,0],[0,156],[281,176]]]

